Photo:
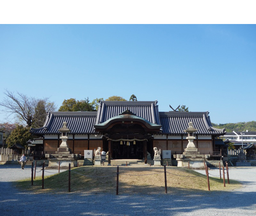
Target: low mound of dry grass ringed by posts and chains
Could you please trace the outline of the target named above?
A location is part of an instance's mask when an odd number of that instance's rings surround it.
[[[71,191],[75,192],[109,192],[116,193],[116,167],[114,166],[84,166],[72,169]],[[163,167],[119,167],[119,194],[140,193],[159,194],[164,193],[164,168]],[[168,193],[180,193],[188,191],[207,191],[206,176],[188,170],[186,168],[167,167],[167,191]],[[40,172],[41,175],[41,172]],[[16,186],[35,193],[43,192],[67,192],[68,171],[46,176],[44,178],[44,190],[42,190],[41,176],[34,180],[20,180]],[[240,186],[235,180],[230,180],[226,188],[223,180],[210,177],[210,188],[212,190],[233,190]]]

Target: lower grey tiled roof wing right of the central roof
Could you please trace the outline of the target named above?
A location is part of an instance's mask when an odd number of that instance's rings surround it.
[[[194,128],[198,129],[195,134],[200,135],[223,135],[224,129],[212,127],[208,112],[159,112],[163,133],[187,134],[188,123],[193,122]]]

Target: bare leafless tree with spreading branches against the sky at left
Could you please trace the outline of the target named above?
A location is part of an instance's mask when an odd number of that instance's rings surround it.
[[[13,93],[8,90],[5,90],[4,94],[5,98],[0,101],[0,106],[3,107],[1,111],[8,113],[9,116],[15,114],[17,122],[23,125],[27,124],[27,127],[31,127],[38,118],[42,117],[41,112],[36,112],[38,103],[43,103],[47,111],[55,109],[54,103],[49,102],[49,98],[36,99],[20,92]]]

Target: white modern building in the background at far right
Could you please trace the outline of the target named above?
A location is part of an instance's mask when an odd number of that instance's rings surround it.
[[[242,133],[242,134],[241,134]],[[228,139],[229,141],[239,141],[245,144],[256,144],[256,132],[249,132],[248,130],[243,132],[227,132],[223,136],[224,138]]]

